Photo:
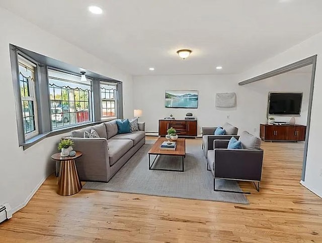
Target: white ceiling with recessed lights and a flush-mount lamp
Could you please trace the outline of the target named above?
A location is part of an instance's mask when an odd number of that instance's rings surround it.
[[[89,13],[90,5],[103,15]],[[239,73],[322,31],[321,0],[1,0],[0,7],[133,75]],[[181,60],[176,51],[186,48],[193,53]]]

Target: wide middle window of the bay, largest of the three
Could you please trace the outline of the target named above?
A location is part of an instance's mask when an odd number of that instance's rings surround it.
[[[48,69],[50,118],[53,130],[92,121],[91,80]]]

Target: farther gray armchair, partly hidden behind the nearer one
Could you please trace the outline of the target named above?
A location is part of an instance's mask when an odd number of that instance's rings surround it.
[[[203,127],[202,128],[202,150],[207,158],[208,150],[213,150],[214,140],[229,140],[231,137],[239,138],[237,136],[238,129],[229,123],[225,123],[223,129],[226,131],[225,135],[214,135],[217,127]]]

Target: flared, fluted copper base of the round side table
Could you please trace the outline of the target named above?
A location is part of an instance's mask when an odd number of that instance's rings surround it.
[[[58,178],[57,193],[61,196],[70,196],[82,189],[74,160],[60,163],[60,176]]]

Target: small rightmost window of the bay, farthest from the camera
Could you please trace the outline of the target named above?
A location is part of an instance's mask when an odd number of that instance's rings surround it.
[[[117,116],[117,84],[100,82],[102,118]]]

